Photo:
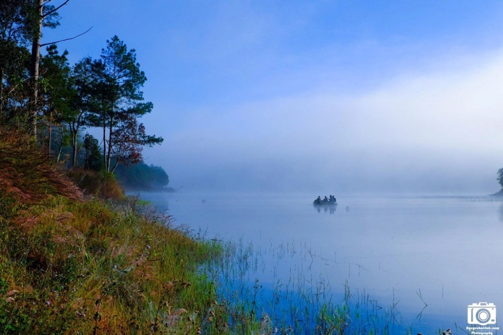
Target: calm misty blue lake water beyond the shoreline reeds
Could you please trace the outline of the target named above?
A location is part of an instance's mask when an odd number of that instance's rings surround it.
[[[261,283],[291,275],[326,278],[334,296],[363,292],[397,303],[414,333],[465,328],[467,306],[494,303],[503,318],[503,203],[491,197],[338,197],[317,210],[317,195],[144,193],[176,224],[208,238],[242,239],[264,250]],[[293,250],[293,251],[292,251]],[[294,257],[294,255],[298,257]],[[307,255],[307,256],[306,256]],[[426,306],[427,305],[427,306]],[[426,308],[425,308],[426,306]]]

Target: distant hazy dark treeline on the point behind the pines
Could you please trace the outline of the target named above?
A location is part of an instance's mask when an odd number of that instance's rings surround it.
[[[170,178],[160,166],[149,166],[144,162],[128,166],[119,164],[114,173],[119,183],[128,190],[172,190],[167,188]]]

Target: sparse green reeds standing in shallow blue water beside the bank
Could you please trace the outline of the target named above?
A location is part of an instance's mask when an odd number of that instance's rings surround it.
[[[305,271],[319,258],[305,245],[281,243],[265,248],[242,238],[222,245],[222,256],[206,263],[200,273],[214,278],[216,294],[229,315],[227,329],[232,333],[411,331],[411,326],[404,326],[394,292],[391,305],[385,307],[365,291],[351,291],[348,282],[343,295],[334,294],[326,278]],[[285,258],[298,262],[287,276],[278,270]]]

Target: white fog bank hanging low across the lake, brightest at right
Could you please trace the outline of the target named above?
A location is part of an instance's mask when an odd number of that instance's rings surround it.
[[[359,189],[386,183],[392,189],[393,180],[405,183],[402,188],[496,188],[495,169],[503,163],[502,84],[503,53],[497,52],[470,66],[395,78],[358,96],[325,89],[198,110],[186,129],[166,136],[163,149],[184,161],[185,172],[220,171],[240,186],[303,178],[309,187],[329,177],[348,188],[360,180]]]

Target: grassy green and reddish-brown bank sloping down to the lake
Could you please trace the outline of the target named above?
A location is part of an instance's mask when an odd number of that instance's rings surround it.
[[[123,198],[112,175],[71,172],[87,195],[67,175],[0,129],[0,333],[220,332],[213,283],[197,269],[221,246],[137,199],[100,199],[103,180]]]

